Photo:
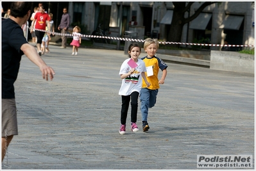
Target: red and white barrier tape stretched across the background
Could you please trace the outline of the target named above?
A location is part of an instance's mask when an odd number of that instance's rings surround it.
[[[46,32],[44,29],[35,29],[37,31]],[[56,33],[49,31],[48,33],[54,33],[54,35],[58,36],[66,36],[66,37],[73,37],[73,34],[69,33]],[[97,36],[97,35],[80,35],[80,37],[87,37],[87,38],[108,38],[112,40],[123,40],[123,41],[132,41],[132,42],[144,42],[145,40],[142,39],[135,39],[135,38],[120,38],[120,37],[104,37],[104,36]],[[254,45],[220,45],[220,44],[194,44],[194,43],[181,43],[181,42],[160,42],[159,44],[176,44],[176,45],[206,45],[206,46],[216,46],[216,47],[222,47],[222,46],[228,46],[228,47],[254,47]]]

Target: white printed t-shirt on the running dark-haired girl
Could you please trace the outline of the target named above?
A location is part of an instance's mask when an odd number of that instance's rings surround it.
[[[121,65],[119,75],[126,74],[129,72],[129,70],[132,69],[130,65],[128,65],[128,61],[130,58],[125,60],[123,64]],[[135,68],[135,71],[130,76],[122,79],[122,85],[119,90],[119,95],[130,95],[132,92],[141,92],[141,86],[142,86],[142,76],[141,72],[146,72],[146,66],[144,61],[141,59],[138,59],[137,61],[137,67]]]

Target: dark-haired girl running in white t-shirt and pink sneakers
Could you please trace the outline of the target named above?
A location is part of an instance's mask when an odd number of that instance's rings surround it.
[[[141,91],[142,77],[146,86],[149,86],[146,79],[146,67],[145,63],[138,59],[141,54],[141,47],[139,44],[130,44],[128,47],[129,57],[127,60],[124,60],[121,65],[119,75],[122,79],[122,85],[119,90],[119,95],[122,98],[122,108],[121,108],[121,126],[119,129],[120,134],[125,134],[126,129],[126,118],[129,108],[129,103],[131,101],[131,127],[132,131],[139,131],[137,127],[137,111],[138,111],[138,97],[139,92]],[[132,64],[130,64],[132,60]],[[131,67],[132,66],[132,67]],[[142,76],[142,77],[141,77]]]

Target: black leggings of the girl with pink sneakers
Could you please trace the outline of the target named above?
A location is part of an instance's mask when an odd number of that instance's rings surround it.
[[[126,118],[131,100],[131,122],[137,122],[139,92],[132,92],[130,95],[122,95],[121,124],[126,124]]]

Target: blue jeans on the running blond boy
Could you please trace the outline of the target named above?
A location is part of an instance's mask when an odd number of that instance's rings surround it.
[[[148,88],[141,88],[141,117],[142,121],[148,121],[148,108],[155,106],[157,102],[158,89],[149,90]]]

